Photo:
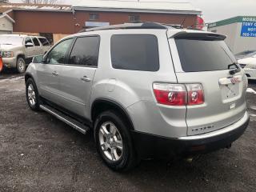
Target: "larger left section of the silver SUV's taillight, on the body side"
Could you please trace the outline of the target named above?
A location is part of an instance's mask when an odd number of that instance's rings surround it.
[[[168,106],[186,105],[186,86],[179,84],[154,83],[153,88],[158,103]]]

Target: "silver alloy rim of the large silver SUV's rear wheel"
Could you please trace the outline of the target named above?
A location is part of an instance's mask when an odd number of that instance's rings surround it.
[[[123,154],[122,136],[112,122],[105,122],[98,132],[100,149],[110,161],[118,161]]]

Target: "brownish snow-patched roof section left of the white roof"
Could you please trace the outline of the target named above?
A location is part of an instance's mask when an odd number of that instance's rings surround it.
[[[5,13],[9,10],[72,10],[72,6],[26,3],[0,3],[0,13]]]

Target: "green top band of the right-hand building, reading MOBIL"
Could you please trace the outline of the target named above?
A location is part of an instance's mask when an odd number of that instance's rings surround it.
[[[237,16],[234,18],[227,18],[218,22],[212,22],[208,24],[208,28],[214,28],[217,26],[226,26],[238,22],[256,22],[256,16]]]

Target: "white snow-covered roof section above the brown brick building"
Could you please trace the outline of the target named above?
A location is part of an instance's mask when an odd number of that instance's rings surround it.
[[[74,10],[127,11],[145,13],[201,14],[191,2],[81,1]]]

